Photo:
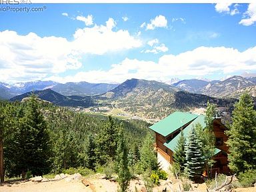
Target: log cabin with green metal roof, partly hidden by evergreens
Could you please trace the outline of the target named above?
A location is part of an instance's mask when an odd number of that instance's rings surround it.
[[[155,132],[155,147],[157,149],[157,159],[162,169],[167,170],[173,163],[173,151],[177,145],[177,140],[183,131],[185,137],[197,123],[204,128],[205,116],[193,113],[175,112],[155,123],[149,129]],[[215,134],[215,154],[213,159],[216,161],[212,167],[211,174],[229,173],[227,153],[228,147],[225,144],[228,137],[225,135],[227,127],[221,123],[220,118],[213,120],[213,132]]]

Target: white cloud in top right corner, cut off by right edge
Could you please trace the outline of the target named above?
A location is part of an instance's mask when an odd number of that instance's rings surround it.
[[[250,26],[256,22],[256,3],[251,3],[248,5],[247,11],[243,14],[245,19],[241,19],[239,24]]]

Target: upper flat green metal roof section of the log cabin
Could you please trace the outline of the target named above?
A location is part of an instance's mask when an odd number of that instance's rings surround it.
[[[176,111],[168,117],[165,117],[165,119],[162,119],[161,121],[155,123],[154,125],[149,127],[149,129],[166,137],[167,135],[173,133],[173,131],[181,128],[183,125],[189,123],[190,121],[193,121],[198,116],[199,115],[193,113]]]

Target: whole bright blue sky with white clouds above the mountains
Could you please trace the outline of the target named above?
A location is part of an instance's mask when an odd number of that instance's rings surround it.
[[[0,5],[2,82],[168,82],[256,73],[256,4],[9,6],[43,11]]]

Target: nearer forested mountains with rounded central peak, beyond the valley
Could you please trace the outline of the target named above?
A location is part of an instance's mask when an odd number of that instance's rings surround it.
[[[31,91],[13,97],[11,101],[22,101],[31,94],[55,105],[69,107],[89,107],[91,111],[118,111],[117,114],[145,117],[146,119],[161,119],[175,110],[206,107],[207,101],[216,103],[221,113],[230,112],[237,99],[217,99],[207,95],[189,93],[181,89],[143,79],[129,79],[111,91],[100,95],[81,97],[77,95],[64,96],[51,89]]]

